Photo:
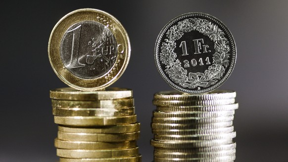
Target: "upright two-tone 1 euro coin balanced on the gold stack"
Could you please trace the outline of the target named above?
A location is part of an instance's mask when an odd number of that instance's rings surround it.
[[[125,71],[130,41],[121,23],[97,9],[78,9],[53,28],[48,56],[51,66],[69,86],[85,91],[107,87]]]

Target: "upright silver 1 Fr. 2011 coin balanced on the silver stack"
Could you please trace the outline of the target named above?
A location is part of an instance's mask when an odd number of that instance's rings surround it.
[[[155,63],[162,78],[185,93],[206,93],[222,85],[236,62],[236,45],[229,29],[205,13],[186,13],[161,30]]]

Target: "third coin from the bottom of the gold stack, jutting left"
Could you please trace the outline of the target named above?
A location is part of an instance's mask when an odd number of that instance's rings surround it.
[[[137,146],[136,141],[123,142],[89,142],[89,141],[64,141],[55,139],[54,145],[58,149],[68,150],[112,150],[129,149]]]

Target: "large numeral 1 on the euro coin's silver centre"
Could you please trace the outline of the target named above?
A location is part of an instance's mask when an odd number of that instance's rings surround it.
[[[66,66],[67,69],[84,67],[85,64],[79,63],[79,43],[81,35],[81,25],[77,26],[75,29],[67,31],[67,33],[73,33],[72,50],[70,63]]]

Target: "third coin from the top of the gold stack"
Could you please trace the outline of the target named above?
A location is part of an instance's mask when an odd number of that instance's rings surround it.
[[[130,116],[135,114],[135,108],[52,108],[52,114],[55,116],[94,116],[94,117],[118,117]]]

